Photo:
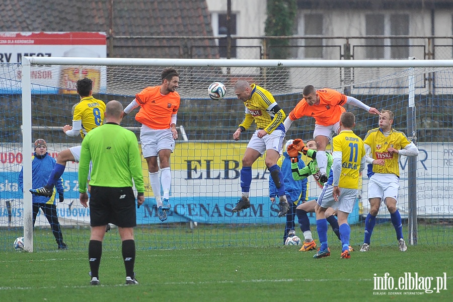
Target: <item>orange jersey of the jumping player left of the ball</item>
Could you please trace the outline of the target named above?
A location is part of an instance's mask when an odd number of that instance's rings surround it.
[[[140,104],[135,120],[156,130],[170,128],[172,114],[178,112],[181,102],[176,91],[162,95],[160,90],[160,86],[146,87],[135,95],[135,100]]]

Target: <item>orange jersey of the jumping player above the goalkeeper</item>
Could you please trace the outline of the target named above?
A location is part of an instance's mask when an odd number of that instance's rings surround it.
[[[310,106],[305,99],[301,99],[289,113],[289,118],[294,121],[303,116],[311,116],[316,124],[330,126],[340,120],[340,115],[346,111],[342,105],[346,104],[347,96],[333,89],[324,88],[317,90],[319,104]]]

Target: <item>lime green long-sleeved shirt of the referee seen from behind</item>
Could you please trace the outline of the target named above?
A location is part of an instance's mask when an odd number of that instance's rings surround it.
[[[115,123],[106,123],[87,133],[80,153],[79,192],[87,192],[87,179],[93,162],[90,185],[132,187],[144,192],[141,156],[135,134]]]

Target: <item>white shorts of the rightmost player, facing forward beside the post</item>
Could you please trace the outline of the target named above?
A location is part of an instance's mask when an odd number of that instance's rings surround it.
[[[385,201],[387,197],[392,197],[398,201],[399,188],[399,179],[395,174],[374,173],[368,181],[368,199],[381,198]]]

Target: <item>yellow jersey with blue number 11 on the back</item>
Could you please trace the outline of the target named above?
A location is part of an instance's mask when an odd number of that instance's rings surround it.
[[[363,140],[352,130],[342,130],[332,139],[333,152],[341,152],[341,174],[338,186],[358,189],[360,162],[365,156]]]

